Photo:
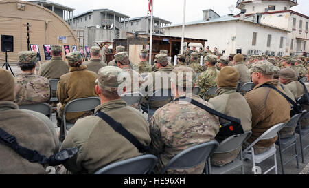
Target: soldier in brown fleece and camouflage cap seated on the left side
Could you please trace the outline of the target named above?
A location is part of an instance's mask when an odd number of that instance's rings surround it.
[[[80,52],[71,52],[65,57],[69,62],[69,73],[60,77],[56,92],[60,102],[56,109],[57,125],[58,127],[61,127],[60,140],[63,140],[65,131],[63,127],[60,126],[65,105],[67,105],[69,101],[77,98],[97,96],[94,90],[97,74],[87,70],[87,67],[82,65],[82,56],[80,55]],[[78,118],[83,118],[92,114],[93,112],[69,112],[65,114],[65,118],[66,121],[75,123]]]

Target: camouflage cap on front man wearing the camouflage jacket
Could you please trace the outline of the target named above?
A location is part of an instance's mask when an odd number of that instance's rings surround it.
[[[173,70],[175,76],[172,76],[172,83],[179,87],[194,87],[196,81],[195,72],[190,67],[176,67]]]

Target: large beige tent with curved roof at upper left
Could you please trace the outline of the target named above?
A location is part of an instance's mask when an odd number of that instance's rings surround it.
[[[0,34],[14,36],[14,52],[8,52],[10,63],[17,62],[18,52],[27,51],[27,23],[32,25],[30,44],[38,45],[42,61],[45,61],[43,45],[59,44],[62,50],[69,45],[71,52],[72,45],[79,48],[73,30],[54,12],[27,1],[0,0]],[[0,52],[0,62],[4,61],[5,52]]]

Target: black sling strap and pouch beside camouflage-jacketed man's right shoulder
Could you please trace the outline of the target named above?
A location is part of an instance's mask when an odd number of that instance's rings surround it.
[[[236,134],[244,134],[244,129],[242,129],[242,123],[239,118],[234,118],[232,116],[227,116],[226,114],[222,114],[221,112],[211,109],[210,107],[207,107],[206,105],[203,105],[202,103],[199,103],[198,101],[195,101],[192,98],[180,97],[180,98],[176,98],[174,101],[180,101],[180,100],[191,103],[192,105],[196,105],[197,107],[200,107],[201,109],[204,109],[205,111],[209,112],[209,114],[213,114],[215,116],[218,116],[220,118],[223,118],[229,121],[229,123],[220,125],[220,130],[217,136],[229,137],[229,136],[236,135]]]

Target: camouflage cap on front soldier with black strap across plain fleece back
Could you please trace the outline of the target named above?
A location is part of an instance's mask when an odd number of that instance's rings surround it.
[[[108,92],[117,92],[118,87],[126,82],[128,73],[119,67],[107,66],[98,71],[98,79],[95,81],[99,87]],[[125,86],[125,84],[124,84]],[[120,88],[121,90],[123,88]]]

